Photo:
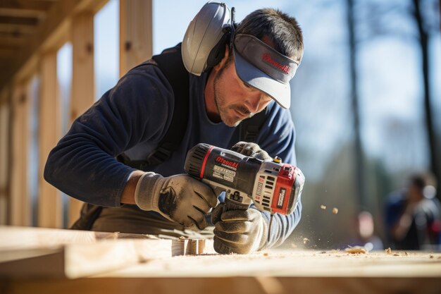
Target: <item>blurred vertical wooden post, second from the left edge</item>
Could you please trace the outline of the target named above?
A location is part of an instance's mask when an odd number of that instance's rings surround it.
[[[30,99],[27,82],[13,87],[13,142],[11,164],[11,225],[30,226],[31,202],[27,180]]]

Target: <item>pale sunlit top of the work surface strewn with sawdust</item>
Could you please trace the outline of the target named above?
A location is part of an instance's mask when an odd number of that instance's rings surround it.
[[[396,255],[394,255],[396,254]],[[344,252],[268,250],[249,255],[182,256],[156,260],[108,273],[106,277],[321,276],[321,277],[438,277],[440,252]],[[158,271],[158,269],[168,269]],[[332,270],[330,270],[332,269]],[[101,276],[101,277],[104,277]]]

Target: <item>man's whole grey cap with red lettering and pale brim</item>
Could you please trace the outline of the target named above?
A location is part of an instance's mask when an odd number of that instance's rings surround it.
[[[294,78],[299,62],[246,34],[235,36],[233,52],[239,78],[268,94],[283,108],[289,109],[290,80]]]

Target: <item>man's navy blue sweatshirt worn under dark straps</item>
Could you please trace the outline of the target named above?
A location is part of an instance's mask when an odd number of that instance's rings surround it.
[[[149,171],[171,176],[185,173],[187,151],[199,142],[230,149],[239,141],[238,128],[213,123],[205,111],[207,74],[190,75],[190,106],[187,130],[170,159]],[[173,116],[173,90],[161,70],[149,64],[129,71],[85,114],[51,150],[44,178],[59,190],[83,202],[119,207],[130,166],[115,157],[125,153],[131,160],[144,160],[166,134]],[[272,157],[295,164],[294,124],[290,111],[275,102],[256,143]],[[254,207],[255,208],[255,207]],[[275,214],[266,247],[280,245],[300,220],[302,204],[289,216]],[[145,212],[147,214],[153,212]],[[269,222],[269,214],[262,213]]]

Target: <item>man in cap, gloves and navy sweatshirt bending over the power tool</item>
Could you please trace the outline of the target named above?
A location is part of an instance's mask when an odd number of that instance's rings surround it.
[[[223,212],[209,186],[182,173],[187,151],[199,142],[234,146],[260,159],[277,155],[295,164],[294,125],[287,108],[289,80],[302,54],[302,32],[294,18],[273,9],[251,13],[232,42],[226,42],[221,61],[200,76],[190,75],[182,142],[170,159],[145,171],[115,157],[147,158],[170,128],[175,97],[161,70],[143,63],[77,118],[49,154],[44,177],[66,194],[104,207],[93,214],[83,209],[83,223],[86,219],[94,231],[191,235],[204,232],[206,215],[217,206],[215,243],[242,254],[280,245],[299,222],[300,200],[293,214],[275,214],[270,223],[268,213],[252,205],[247,211]],[[235,126],[263,109],[257,144],[237,143]]]

